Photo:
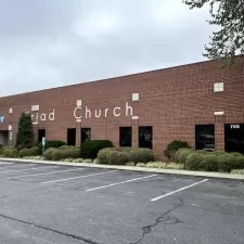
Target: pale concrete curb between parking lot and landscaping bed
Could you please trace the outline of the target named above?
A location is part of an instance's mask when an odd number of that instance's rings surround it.
[[[182,169],[181,170],[157,169],[157,168],[134,167],[134,166],[98,165],[98,164],[87,164],[87,163],[68,163],[68,162],[36,160],[36,159],[5,158],[5,157],[0,157],[0,162],[36,163],[36,164],[44,164],[44,165],[66,165],[66,166],[76,166],[76,167],[82,166],[82,167],[89,167],[89,168],[106,168],[106,169],[118,169],[118,170],[181,175],[181,176],[191,176],[191,177],[206,177],[206,178],[216,178],[216,179],[244,180],[244,175],[189,171],[189,170],[182,170]]]

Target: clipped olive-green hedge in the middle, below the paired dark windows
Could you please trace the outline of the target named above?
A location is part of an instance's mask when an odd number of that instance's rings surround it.
[[[150,149],[107,147],[99,152],[98,159],[100,164],[126,165],[129,162],[134,164],[152,162],[154,157]]]

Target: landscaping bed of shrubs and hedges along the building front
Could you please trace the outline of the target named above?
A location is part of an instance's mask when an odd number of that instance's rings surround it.
[[[183,146],[184,144],[181,143]],[[81,146],[66,145],[64,142],[50,141],[43,155],[40,145],[16,149],[0,145],[0,155],[12,158],[88,163],[103,165],[124,165],[159,169],[185,169],[195,171],[231,172],[244,175],[244,155],[241,153],[195,151],[190,146],[170,150],[174,162],[154,159],[150,149],[114,147],[107,140],[93,140]]]

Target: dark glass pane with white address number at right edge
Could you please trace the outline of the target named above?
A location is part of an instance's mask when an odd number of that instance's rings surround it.
[[[244,154],[244,124],[224,125],[224,141],[227,152]]]

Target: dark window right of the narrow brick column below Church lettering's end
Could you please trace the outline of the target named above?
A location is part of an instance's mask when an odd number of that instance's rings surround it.
[[[153,128],[151,126],[139,127],[139,147],[153,147]]]

